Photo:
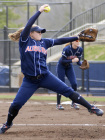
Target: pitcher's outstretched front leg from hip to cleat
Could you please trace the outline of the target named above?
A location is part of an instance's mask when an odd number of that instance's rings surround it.
[[[41,87],[50,89],[56,93],[62,94],[65,97],[70,98],[75,103],[79,103],[86,107],[90,112],[95,113],[97,116],[103,115],[103,110],[92,106],[89,102],[87,102],[78,92],[74,91],[72,88],[68,87],[64,82],[62,82],[59,78],[54,76],[51,72],[48,72],[40,83]]]

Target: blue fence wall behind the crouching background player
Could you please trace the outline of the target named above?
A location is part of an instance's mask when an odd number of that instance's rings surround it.
[[[48,64],[49,70],[57,76],[56,74],[56,64],[57,62],[50,62]],[[78,65],[74,64],[74,71],[76,73],[78,90],[87,95],[104,95],[105,96],[105,62],[103,61],[89,61],[90,68],[88,70],[81,70]],[[70,82],[65,77],[65,83],[68,86]],[[49,91],[50,93],[52,91]]]

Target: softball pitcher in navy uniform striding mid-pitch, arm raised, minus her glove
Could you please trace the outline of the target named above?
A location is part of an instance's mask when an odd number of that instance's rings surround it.
[[[79,95],[79,93],[68,87],[48,70],[46,65],[47,49],[54,45],[61,45],[78,40],[79,37],[66,37],[59,39],[42,38],[42,33],[45,33],[46,29],[32,25],[45,10],[46,6],[48,5],[45,4],[39,8],[39,11],[37,11],[36,14],[28,20],[25,28],[9,34],[11,40],[19,40],[21,70],[24,74],[24,78],[15,99],[9,107],[7,121],[0,128],[0,134],[5,133],[13,125],[13,120],[18,115],[19,110],[40,87],[62,94],[74,102],[80,103],[86,107],[89,112],[98,116],[103,115],[103,110],[88,103]]]

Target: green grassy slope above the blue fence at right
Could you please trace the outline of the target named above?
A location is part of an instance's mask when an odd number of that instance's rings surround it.
[[[84,46],[84,58],[92,61],[105,61],[105,44]]]

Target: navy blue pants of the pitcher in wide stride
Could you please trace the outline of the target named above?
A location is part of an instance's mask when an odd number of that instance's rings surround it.
[[[51,72],[48,72],[38,80],[30,80],[24,77],[22,85],[18,90],[18,93],[11,106],[19,110],[40,87],[47,88],[58,94],[64,95],[65,97],[69,97],[74,92],[72,88],[68,87],[64,82],[54,76]]]

